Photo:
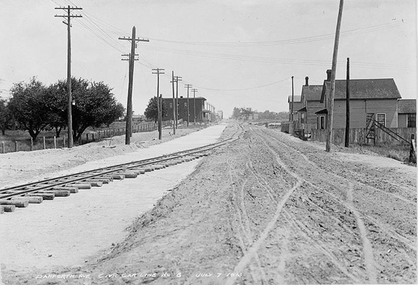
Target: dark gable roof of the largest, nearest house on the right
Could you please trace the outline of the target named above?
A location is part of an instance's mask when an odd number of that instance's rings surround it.
[[[331,90],[331,82],[324,81],[321,94],[321,102],[326,93]],[[399,99],[401,98],[393,78],[378,79],[350,79],[351,99]],[[346,80],[335,81],[334,100],[346,99]]]

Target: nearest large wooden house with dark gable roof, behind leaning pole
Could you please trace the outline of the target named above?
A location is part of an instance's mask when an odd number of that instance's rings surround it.
[[[327,71],[331,74],[331,71]],[[317,127],[327,113],[331,82],[324,81],[320,102],[324,109],[317,112]],[[350,79],[350,128],[366,128],[372,118],[384,127],[397,127],[397,101],[401,98],[392,78]],[[325,116],[326,117],[326,116]],[[326,119],[325,119],[326,120]],[[326,126],[326,122],[324,125]],[[335,81],[333,129],[346,127],[346,80]]]

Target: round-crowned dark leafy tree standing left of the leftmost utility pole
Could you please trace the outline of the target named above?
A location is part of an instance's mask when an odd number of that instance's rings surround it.
[[[45,86],[33,77],[29,83],[15,83],[11,88],[11,95],[8,105],[11,115],[35,140],[50,123],[50,112],[45,104]]]

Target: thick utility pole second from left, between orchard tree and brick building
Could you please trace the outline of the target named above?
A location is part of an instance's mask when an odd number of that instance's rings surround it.
[[[149,42],[149,40],[140,39],[135,37],[135,25],[132,27],[132,37],[119,37],[119,40],[129,40],[130,45],[130,57],[129,57],[129,83],[128,83],[128,103],[126,104],[126,132],[125,132],[125,144],[130,144],[130,137],[132,136],[132,88],[133,88],[133,68],[135,56],[135,47],[137,42]]]

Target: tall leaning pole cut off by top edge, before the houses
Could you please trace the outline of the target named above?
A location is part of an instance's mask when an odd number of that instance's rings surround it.
[[[335,73],[337,71],[337,55],[338,55],[338,42],[339,42],[339,30],[341,28],[342,8],[344,6],[344,0],[339,0],[339,11],[337,18],[337,29],[335,31],[334,40],[334,53],[332,55],[332,67],[331,67],[331,92],[328,98],[328,122],[327,122],[327,136],[325,151],[331,151],[332,140],[332,117],[334,115],[334,95],[335,95]]]

